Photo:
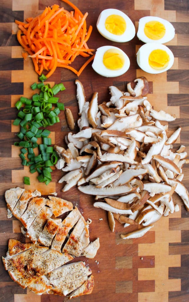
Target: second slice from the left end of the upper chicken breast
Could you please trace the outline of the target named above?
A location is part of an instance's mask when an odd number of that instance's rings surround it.
[[[12,214],[20,220],[20,217],[24,214],[25,210],[27,209],[28,202],[31,198],[41,196],[41,193],[39,191],[28,190],[24,191],[21,195],[20,199],[18,200],[16,206],[12,210]]]

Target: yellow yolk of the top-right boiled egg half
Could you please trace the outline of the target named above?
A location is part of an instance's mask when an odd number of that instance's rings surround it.
[[[149,21],[144,26],[145,35],[152,40],[159,40],[165,35],[165,26],[159,21]]]

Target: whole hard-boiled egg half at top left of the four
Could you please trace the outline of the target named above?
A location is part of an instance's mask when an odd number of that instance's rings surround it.
[[[103,10],[97,20],[99,33],[114,42],[127,42],[134,38],[135,27],[131,19],[118,9]]]

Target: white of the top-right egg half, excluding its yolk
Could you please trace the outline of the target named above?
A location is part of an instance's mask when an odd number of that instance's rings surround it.
[[[160,23],[162,23],[165,26],[164,37],[162,37],[161,39],[158,39],[158,40],[153,40],[153,39],[146,37],[146,35],[144,33],[144,27],[145,27],[145,24],[149,21],[159,21]],[[139,40],[143,41],[144,43],[149,43],[149,42],[166,43],[175,37],[175,28],[167,20],[164,20],[159,17],[146,16],[139,20],[137,37],[139,38]]]

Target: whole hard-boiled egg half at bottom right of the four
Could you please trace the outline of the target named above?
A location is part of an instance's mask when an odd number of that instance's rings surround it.
[[[171,68],[174,63],[174,55],[163,44],[146,43],[137,52],[137,63],[142,70],[148,73],[161,73]]]

